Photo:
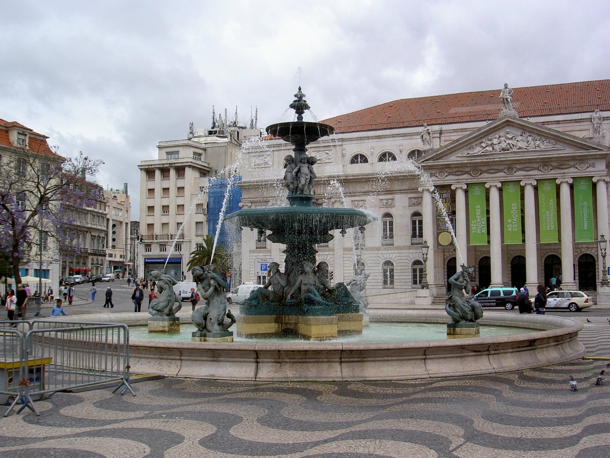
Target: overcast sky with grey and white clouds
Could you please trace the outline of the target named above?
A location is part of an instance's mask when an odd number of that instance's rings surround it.
[[[140,161],[212,105],[290,120],[299,84],[318,119],[400,98],[610,78],[608,1],[0,2],[0,118],[106,164]]]

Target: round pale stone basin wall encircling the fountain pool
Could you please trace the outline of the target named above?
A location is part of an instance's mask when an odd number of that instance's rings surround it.
[[[178,314],[188,321],[188,313]],[[61,318],[57,318],[61,320]],[[66,319],[74,320],[74,316]],[[447,323],[444,311],[371,310],[371,321]],[[144,325],[145,313],[87,314],[80,321]],[[412,380],[492,374],[581,358],[583,324],[569,318],[489,313],[483,325],[537,331],[509,336],[394,343],[199,343],[131,340],[132,373],[257,381]]]

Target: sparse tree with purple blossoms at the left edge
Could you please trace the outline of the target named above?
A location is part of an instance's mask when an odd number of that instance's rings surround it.
[[[9,258],[16,283],[21,282],[20,264],[32,259],[37,250],[44,251],[49,239],[58,249],[70,244],[73,220],[66,206],[87,208],[103,199],[101,187],[87,181],[87,175],[95,175],[101,164],[82,151],[67,159],[31,151],[2,157],[0,250]]]

